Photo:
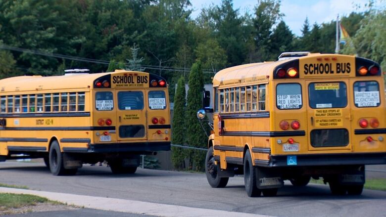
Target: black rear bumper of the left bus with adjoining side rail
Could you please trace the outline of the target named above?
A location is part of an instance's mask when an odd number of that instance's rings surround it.
[[[122,153],[170,151],[170,142],[133,142],[114,144],[90,144],[89,148],[63,148],[73,153]]]

